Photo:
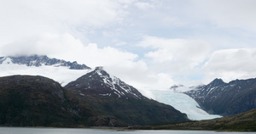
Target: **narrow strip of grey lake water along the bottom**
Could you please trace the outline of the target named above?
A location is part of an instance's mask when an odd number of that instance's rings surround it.
[[[0,134],[252,134],[252,132],[115,131],[103,129],[0,127]]]

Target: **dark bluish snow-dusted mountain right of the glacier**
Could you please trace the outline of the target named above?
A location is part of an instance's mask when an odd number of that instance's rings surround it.
[[[256,108],[256,79],[229,83],[215,79],[208,85],[184,93],[210,114],[227,116]]]

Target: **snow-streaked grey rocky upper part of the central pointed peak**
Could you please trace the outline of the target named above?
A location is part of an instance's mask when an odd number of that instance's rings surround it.
[[[136,88],[131,87],[113,75],[109,75],[102,67],[96,67],[90,73],[79,77],[76,81],[68,83],[66,88],[100,96],[127,99],[145,98]],[[80,93],[80,95],[83,95],[83,93]]]

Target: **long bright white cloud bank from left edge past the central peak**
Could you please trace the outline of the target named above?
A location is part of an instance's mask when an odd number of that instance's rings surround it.
[[[98,65],[127,64],[137,59],[137,54],[121,51],[114,47],[97,47],[96,43],[84,45],[72,35],[45,34],[29,37],[0,47],[1,55],[48,55],[49,57],[79,61],[91,67]]]

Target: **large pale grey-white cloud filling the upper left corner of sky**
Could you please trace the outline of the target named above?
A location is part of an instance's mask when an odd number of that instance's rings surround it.
[[[45,33],[89,35],[122,22],[129,1],[9,0],[0,4],[0,44]],[[81,36],[81,35],[77,35]]]

